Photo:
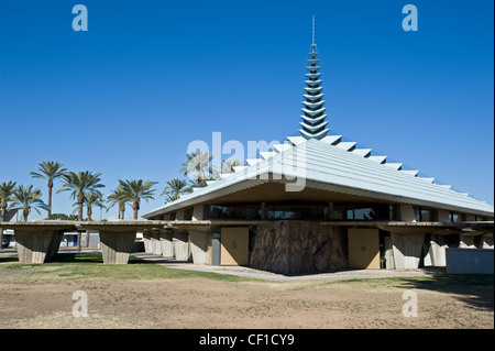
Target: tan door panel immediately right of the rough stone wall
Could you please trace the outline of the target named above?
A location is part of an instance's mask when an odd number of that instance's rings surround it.
[[[380,270],[378,229],[348,229],[349,266]]]

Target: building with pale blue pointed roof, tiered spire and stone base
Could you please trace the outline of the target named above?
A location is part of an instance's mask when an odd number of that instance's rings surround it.
[[[318,51],[300,135],[143,217],[147,251],[283,274],[444,266],[447,248],[493,249],[494,207],[329,135]]]

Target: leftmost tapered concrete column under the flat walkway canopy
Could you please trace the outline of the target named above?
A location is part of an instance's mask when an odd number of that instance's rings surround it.
[[[54,235],[58,235],[58,231],[15,229],[19,263],[44,263],[51,245],[54,245]]]

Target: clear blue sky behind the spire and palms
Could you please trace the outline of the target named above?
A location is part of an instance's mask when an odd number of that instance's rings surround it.
[[[72,28],[77,3],[88,9],[87,32]],[[407,3],[418,9],[418,32],[402,28]],[[161,194],[182,176],[194,140],[298,135],[315,14],[332,133],[493,205],[493,7],[1,1],[0,182],[46,195],[29,173],[53,160],[101,172],[105,194],[118,178],[160,182]],[[73,210],[68,196],[54,195],[54,212]],[[163,204],[143,202],[140,215]],[[111,216],[117,209],[103,212]]]

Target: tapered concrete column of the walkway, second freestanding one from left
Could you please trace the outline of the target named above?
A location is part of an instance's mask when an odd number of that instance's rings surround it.
[[[105,264],[127,264],[135,240],[135,230],[100,231]]]

